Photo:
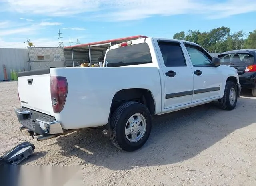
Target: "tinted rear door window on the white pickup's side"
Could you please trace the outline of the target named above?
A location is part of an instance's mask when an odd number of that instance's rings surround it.
[[[186,66],[179,43],[158,42],[166,66]]]

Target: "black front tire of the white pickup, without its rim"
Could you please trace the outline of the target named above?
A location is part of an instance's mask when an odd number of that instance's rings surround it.
[[[234,103],[231,104],[230,102],[230,91],[231,89],[234,89],[235,91],[235,96],[234,96]],[[225,91],[224,91],[224,95],[222,97],[222,99],[220,99],[220,107],[223,110],[233,110],[236,107],[236,103],[237,103],[237,98],[238,98],[238,91],[237,91],[237,87],[236,84],[234,82],[231,81],[227,81],[226,82],[226,86],[225,86]]]

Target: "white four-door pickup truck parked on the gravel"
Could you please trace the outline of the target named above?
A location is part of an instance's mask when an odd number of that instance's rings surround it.
[[[111,46],[103,67],[50,68],[18,73],[20,130],[45,140],[100,127],[126,151],[142,147],[151,119],[219,101],[236,107],[237,70],[220,65],[199,45],[143,38]]]

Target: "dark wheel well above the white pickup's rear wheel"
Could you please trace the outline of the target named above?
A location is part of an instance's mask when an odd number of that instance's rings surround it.
[[[147,89],[123,89],[118,91],[112,100],[111,114],[119,107],[122,103],[127,101],[136,101],[142,103],[148,107],[151,115],[155,113],[155,103],[152,94]]]

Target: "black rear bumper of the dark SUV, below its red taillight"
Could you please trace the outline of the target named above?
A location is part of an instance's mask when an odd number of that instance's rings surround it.
[[[255,89],[256,88],[256,73],[244,73],[243,75],[239,75],[239,83],[242,88],[246,89]]]

